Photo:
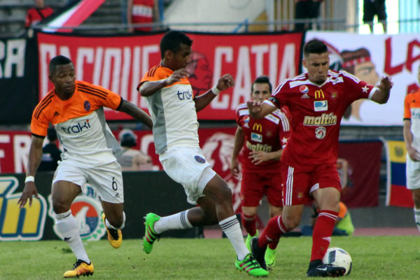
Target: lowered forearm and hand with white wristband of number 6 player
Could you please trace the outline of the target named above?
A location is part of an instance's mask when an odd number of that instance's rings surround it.
[[[31,148],[29,148],[29,159],[27,167],[27,176],[35,176],[36,169],[38,169],[39,163],[42,158],[42,145],[43,138],[32,137]],[[29,207],[32,206],[32,196],[38,197],[38,190],[36,190],[35,182],[28,181],[25,183],[25,188],[23,189],[22,195],[18,200],[19,208],[25,207],[27,200],[29,200]]]

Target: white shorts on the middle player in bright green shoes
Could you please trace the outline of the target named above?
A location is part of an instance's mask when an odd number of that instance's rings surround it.
[[[159,160],[168,176],[184,187],[190,204],[197,204],[204,187],[216,175],[200,148],[172,148],[159,155]]]

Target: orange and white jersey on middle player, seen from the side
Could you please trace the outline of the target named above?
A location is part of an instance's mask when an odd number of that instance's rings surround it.
[[[168,78],[172,73],[169,68],[154,66],[141,79],[140,86]],[[187,78],[162,87],[146,99],[153,120],[156,153],[165,153],[175,146],[199,148],[193,88]]]

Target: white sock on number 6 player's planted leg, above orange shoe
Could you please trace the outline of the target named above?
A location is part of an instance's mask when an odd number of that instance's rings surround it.
[[[62,214],[54,214],[54,216],[57,232],[62,236],[62,239],[69,244],[71,250],[76,255],[76,258],[90,263],[90,259],[87,257],[85,247],[83,246],[82,239],[78,232],[77,221],[73,215],[71,215],[71,210]]]

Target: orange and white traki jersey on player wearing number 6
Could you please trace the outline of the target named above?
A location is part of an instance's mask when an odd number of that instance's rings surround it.
[[[64,148],[62,158],[83,164],[101,165],[116,160],[120,146],[105,122],[103,107],[118,109],[123,99],[104,87],[76,80],[73,96],[62,100],[55,89],[35,107],[31,133],[45,137],[48,125],[55,126]]]

